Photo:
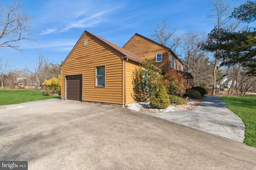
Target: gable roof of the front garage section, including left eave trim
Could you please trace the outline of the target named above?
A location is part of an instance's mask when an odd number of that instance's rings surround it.
[[[78,45],[78,43],[81,41],[82,37],[84,37],[85,34],[88,34],[90,37],[93,37],[93,38],[97,39],[98,41],[101,41],[102,43],[104,43],[105,45],[107,45],[108,47],[110,47],[111,49],[116,51],[117,53],[119,53],[122,57],[128,58],[132,61],[135,61],[136,63],[142,63],[142,59],[140,57],[136,56],[135,54],[131,53],[130,51],[128,51],[126,49],[123,49],[122,47],[119,47],[118,45],[115,45],[114,43],[111,43],[110,41],[107,41],[106,39],[103,39],[103,38],[101,38],[101,37],[99,37],[99,36],[97,36],[93,33],[90,33],[88,31],[84,31],[84,33],[79,38],[76,45],[70,51],[70,53],[68,54],[68,56],[66,57],[66,59],[64,60],[64,62],[62,63],[62,65],[60,67],[63,66],[63,64],[66,62],[68,57],[72,54],[72,52],[74,51],[74,49],[76,48],[76,46]]]

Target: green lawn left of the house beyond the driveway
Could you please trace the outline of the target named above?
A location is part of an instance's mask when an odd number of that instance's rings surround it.
[[[48,96],[42,90],[0,90],[0,105],[19,104],[58,97],[60,96]]]

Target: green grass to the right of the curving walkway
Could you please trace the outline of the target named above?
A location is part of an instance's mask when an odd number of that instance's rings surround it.
[[[245,125],[244,143],[256,147],[256,96],[223,96],[227,108],[236,113]]]

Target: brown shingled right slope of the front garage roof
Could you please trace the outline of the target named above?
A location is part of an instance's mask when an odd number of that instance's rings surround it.
[[[90,33],[88,31],[85,31],[85,33],[88,33],[94,37],[96,37],[97,39],[99,39],[100,41],[104,42],[105,44],[107,44],[108,46],[112,47],[113,49],[115,49],[116,51],[118,51],[119,53],[122,53],[124,57],[127,57],[128,59],[138,62],[138,63],[142,63],[142,59],[138,56],[136,56],[135,54],[131,53],[130,51],[123,49],[122,47],[119,47],[118,45],[115,45],[114,43],[111,43],[110,41],[107,41],[106,39],[103,39],[102,37],[99,37],[93,33]]]

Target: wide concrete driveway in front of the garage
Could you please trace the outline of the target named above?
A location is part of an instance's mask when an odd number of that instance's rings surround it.
[[[64,100],[0,110],[0,160],[29,170],[256,169],[256,148],[123,107]]]

